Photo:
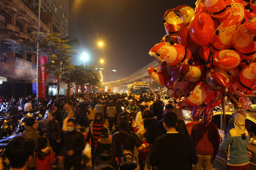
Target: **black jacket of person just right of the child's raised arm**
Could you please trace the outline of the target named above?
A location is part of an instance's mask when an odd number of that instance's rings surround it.
[[[153,144],[155,141],[157,124],[158,124],[157,117],[155,116],[155,117],[144,118],[143,124],[144,124],[144,128],[149,129],[151,132],[151,137],[149,139],[146,139],[146,141],[149,144]]]

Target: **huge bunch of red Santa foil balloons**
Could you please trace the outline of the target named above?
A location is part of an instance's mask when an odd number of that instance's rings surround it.
[[[148,72],[179,99],[178,109],[203,114],[208,125],[222,96],[251,107],[244,94],[256,91],[256,1],[197,0],[167,10],[162,21],[167,35],[149,51],[160,68]]]

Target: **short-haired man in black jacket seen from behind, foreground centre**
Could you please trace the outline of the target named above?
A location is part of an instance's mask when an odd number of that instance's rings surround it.
[[[157,166],[159,170],[189,169],[189,163],[195,164],[197,156],[195,145],[188,135],[176,131],[177,115],[167,112],[163,116],[163,124],[167,131],[155,140],[152,154],[149,158],[151,166]]]

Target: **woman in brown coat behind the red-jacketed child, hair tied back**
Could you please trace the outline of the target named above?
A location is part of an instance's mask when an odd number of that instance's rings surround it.
[[[38,129],[37,119],[30,117],[26,120],[26,129],[22,133],[22,136],[29,136],[35,141],[35,143],[36,143],[35,150],[38,148],[37,141],[39,138],[39,131],[37,131],[37,129]],[[36,159],[35,158],[34,158],[32,164],[29,165],[28,167],[36,168]]]

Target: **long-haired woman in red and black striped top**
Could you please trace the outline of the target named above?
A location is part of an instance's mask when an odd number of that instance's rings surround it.
[[[89,134],[86,138],[86,142],[89,142],[89,139],[91,138],[91,154],[94,153],[95,147],[97,146],[97,142],[101,137],[100,130],[103,127],[108,128],[105,125],[103,113],[96,112],[94,121],[90,123]]]

